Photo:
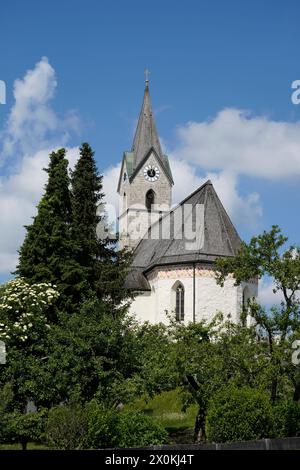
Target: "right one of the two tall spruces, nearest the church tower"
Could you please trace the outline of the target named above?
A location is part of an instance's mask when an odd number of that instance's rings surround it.
[[[71,233],[76,261],[85,271],[90,290],[98,298],[110,298],[117,305],[127,297],[123,284],[129,256],[117,252],[115,242],[108,236],[97,236],[98,224],[105,224],[102,178],[92,148],[83,143],[79,160],[71,172]]]

